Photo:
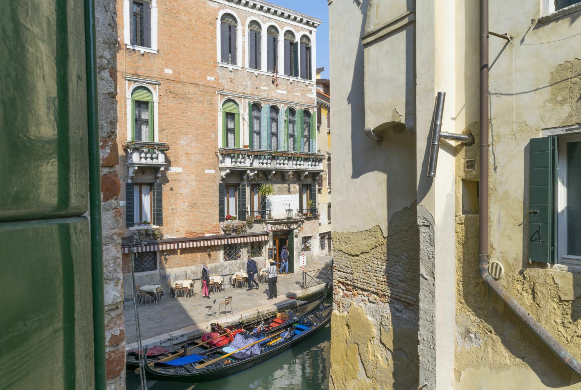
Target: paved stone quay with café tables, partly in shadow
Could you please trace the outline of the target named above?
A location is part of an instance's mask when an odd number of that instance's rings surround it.
[[[225,279],[228,284],[228,279]],[[211,323],[218,322],[223,325],[236,323],[239,320],[253,320],[260,315],[275,312],[278,309],[295,306],[301,301],[290,299],[302,295],[316,293],[324,288],[325,284],[311,286],[302,289],[302,273],[284,274],[278,276],[278,298],[268,298],[268,283],[260,283],[251,291],[247,287],[234,288],[226,286],[225,291],[210,293],[210,299],[202,298],[199,291],[199,283],[196,283],[195,297],[178,297],[174,299],[167,294],[167,286],[163,286],[164,295],[157,304],[138,305],[139,327],[141,340],[144,346],[171,345],[185,341],[189,337],[196,337],[205,333]],[[224,306],[220,308],[220,302],[226,297],[232,297],[232,313],[225,313]],[[216,303],[214,304],[214,299]],[[206,317],[208,309],[216,316]],[[228,307],[229,309],[229,307]],[[257,311],[258,310],[258,311]],[[132,301],[124,303],[125,338],[127,349],[137,348],[137,330],[135,328],[135,310]]]

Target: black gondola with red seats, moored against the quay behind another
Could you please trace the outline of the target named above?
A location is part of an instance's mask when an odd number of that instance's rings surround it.
[[[286,323],[286,321],[282,322],[279,319],[279,317],[282,317],[281,313],[289,312],[288,313],[289,317],[295,317],[295,316],[301,317],[303,315],[309,314],[309,313],[313,312],[314,310],[317,310],[320,307],[320,305],[322,304],[322,302],[325,299],[326,293],[327,293],[327,288],[324,289],[323,293],[319,297],[317,297],[315,299],[311,299],[311,301],[308,301],[308,302],[303,302],[302,304],[299,304],[299,305],[295,306],[294,308],[277,310],[276,313],[273,313],[270,316],[261,317],[260,319],[252,320],[251,322],[248,322],[248,323],[238,322],[238,323],[232,324],[231,326],[227,326],[225,328],[221,328],[218,325],[218,329],[214,328],[213,331],[217,330],[218,333],[220,333],[221,335],[228,335],[230,333],[235,334],[236,331],[241,330],[241,329],[246,330],[246,331],[254,331],[256,329],[256,327],[260,327],[261,330],[279,329],[282,326],[284,326],[284,324]],[[275,322],[278,322],[279,325],[274,326]],[[198,337],[198,338],[191,338],[187,341],[181,342],[179,346],[174,346],[174,345],[159,346],[159,345],[156,345],[153,348],[148,349],[148,356],[147,356],[146,363],[155,363],[155,362],[157,362],[161,359],[164,359],[170,355],[184,351],[184,348],[191,349],[192,346],[195,346],[196,344],[200,344],[200,343],[203,343],[203,341],[201,338]],[[204,344],[200,348],[211,351],[213,349],[220,349],[221,347],[222,347],[222,345],[213,348],[209,344]],[[139,366],[139,357],[138,357],[137,351],[127,352],[127,356],[125,358],[125,364],[128,367],[138,367]]]

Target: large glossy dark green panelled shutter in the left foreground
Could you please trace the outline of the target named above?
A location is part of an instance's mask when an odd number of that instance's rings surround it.
[[[83,2],[3,6],[0,388],[93,389]]]

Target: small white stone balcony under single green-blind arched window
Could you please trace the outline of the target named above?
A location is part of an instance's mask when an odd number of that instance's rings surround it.
[[[165,142],[128,141],[123,146],[127,153],[127,168],[131,179],[140,167],[156,168],[159,176],[167,165],[166,152],[170,147]]]

